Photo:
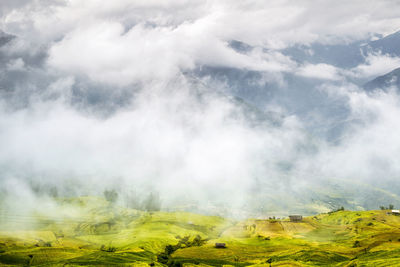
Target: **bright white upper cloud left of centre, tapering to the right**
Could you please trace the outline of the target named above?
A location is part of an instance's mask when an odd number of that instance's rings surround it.
[[[169,80],[202,65],[270,72],[289,71],[294,65],[279,52],[238,53],[205,33],[206,28],[203,21],[197,21],[176,28],[139,24],[124,31],[121,24],[100,23],[71,32],[53,45],[48,64],[120,86]]]

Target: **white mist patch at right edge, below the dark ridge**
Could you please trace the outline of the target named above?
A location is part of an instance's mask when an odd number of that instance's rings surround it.
[[[349,127],[340,146],[325,150],[318,159],[323,171],[343,179],[395,186],[400,168],[396,137],[400,131],[397,116],[400,100],[396,92],[378,92],[374,97],[364,92],[348,94],[352,109]],[[351,178],[353,177],[353,178]]]

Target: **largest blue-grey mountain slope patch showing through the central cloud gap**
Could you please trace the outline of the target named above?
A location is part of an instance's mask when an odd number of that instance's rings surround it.
[[[331,97],[321,90],[323,81],[320,80],[285,73],[263,82],[263,75],[273,74],[218,67],[202,67],[196,75],[203,79],[209,77],[210,86],[215,82],[226,84],[220,89],[224,94],[243,99],[260,111],[284,110],[287,115],[300,118],[311,134],[329,140],[340,136],[342,122],[349,115],[344,98]]]

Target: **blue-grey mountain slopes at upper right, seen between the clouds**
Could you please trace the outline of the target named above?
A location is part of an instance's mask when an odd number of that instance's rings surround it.
[[[357,70],[359,66],[369,66],[368,56],[400,56],[396,49],[400,47],[400,32],[395,32],[377,40],[368,39],[344,42],[339,45],[324,45],[312,43],[309,46],[293,46],[282,52],[300,65],[328,64],[344,71]],[[241,54],[249,54],[255,47],[240,41],[230,41],[229,47]],[[364,64],[366,64],[364,66]],[[384,64],[384,63],[382,63]],[[315,70],[318,71],[318,70]],[[246,70],[234,67],[201,66],[194,75],[210,77],[211,81],[219,81],[226,86],[225,92],[243,98],[260,109],[276,105],[285,108],[289,113],[296,114],[310,124],[314,112],[323,118],[341,121],[347,118],[346,103],[341,99],[332,99],[320,89],[327,81],[313,77],[302,77],[293,72],[268,73],[256,70]],[[349,77],[352,82],[362,85],[365,78]],[[343,81],[329,81],[332,85],[341,86]],[[368,86],[367,86],[368,87]],[[337,116],[332,118],[332,116]],[[321,125],[320,128],[329,128],[330,125]]]

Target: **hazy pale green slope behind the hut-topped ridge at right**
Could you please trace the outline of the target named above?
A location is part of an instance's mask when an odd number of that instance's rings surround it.
[[[267,188],[267,185],[259,184]],[[377,209],[380,206],[400,207],[400,195],[376,185],[351,180],[325,179],[323,182],[276,187],[268,192],[254,192],[245,205],[247,217],[312,215],[340,207],[350,210]],[[246,216],[245,216],[246,217]]]

